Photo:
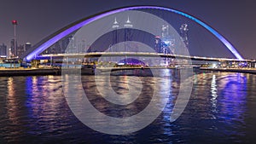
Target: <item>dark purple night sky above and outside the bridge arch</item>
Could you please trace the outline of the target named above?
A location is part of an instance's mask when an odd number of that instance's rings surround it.
[[[1,0],[0,43],[9,46],[18,20],[19,44],[38,43],[68,24],[92,14],[133,5],[157,5],[181,10],[218,30],[244,58],[256,59],[254,0]]]

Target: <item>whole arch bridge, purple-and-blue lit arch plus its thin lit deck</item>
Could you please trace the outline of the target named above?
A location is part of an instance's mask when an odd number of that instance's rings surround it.
[[[96,14],[96,15],[90,16],[89,18],[84,18],[82,20],[78,20],[78,21],[62,28],[58,32],[53,33],[49,37],[44,38],[41,42],[34,45],[32,47],[32,49],[28,49],[26,51],[26,53],[21,56],[21,58],[27,62],[29,62],[31,60],[38,60],[40,58],[44,59],[47,56],[50,56],[50,55],[41,55],[41,53],[44,52],[45,49],[48,49],[51,45],[53,45],[54,43],[61,40],[61,38],[67,37],[69,34],[78,31],[79,28],[86,26],[95,20],[102,19],[111,14],[117,14],[119,12],[123,12],[123,11],[127,11],[127,10],[140,10],[140,9],[160,9],[160,10],[169,11],[174,14],[179,14],[179,15],[182,15],[183,17],[189,18],[189,20],[195,21],[197,24],[204,27],[208,32],[211,32],[213,36],[217,37],[218,40],[224,44],[225,48],[229,49],[230,52],[236,57],[236,60],[241,60],[241,61],[244,60],[241,57],[241,55],[238,53],[238,51],[234,48],[234,46],[226,38],[224,38],[224,36],[219,34],[216,30],[214,30],[211,26],[208,26],[202,20],[199,20],[190,14],[183,13],[176,9],[169,9],[169,8],[164,8],[164,7],[159,7],[159,6],[133,6],[133,7],[126,7],[126,8],[121,8],[121,9],[113,9],[113,10],[110,10],[107,12],[103,12],[101,14]],[[74,54],[74,55],[79,56],[79,54]],[[86,55],[87,56],[90,56],[90,55],[96,56],[96,55],[102,55],[102,54],[86,54]],[[104,55],[106,55],[106,54],[104,54]],[[109,54],[109,55],[114,56],[114,55],[120,55],[120,54]],[[135,54],[127,54],[127,55],[135,55]],[[137,55],[146,55],[146,54],[137,54]],[[176,56],[176,57],[183,57],[184,59],[189,58],[189,59],[197,59],[197,60],[219,60],[218,58],[205,58],[205,57],[195,57],[195,56],[194,57],[193,56],[186,57],[186,56],[180,56],[180,55],[161,55],[161,54],[147,54],[147,55],[158,55],[158,56],[160,55],[160,56],[166,56],[166,57],[175,57]],[[51,56],[52,57],[61,57],[61,56],[65,56],[65,55],[51,55]]]

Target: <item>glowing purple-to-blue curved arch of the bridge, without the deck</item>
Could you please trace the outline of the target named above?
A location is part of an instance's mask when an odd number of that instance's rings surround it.
[[[110,14],[116,14],[119,12],[123,12],[126,10],[136,10],[136,9],[160,9],[160,10],[166,10],[166,11],[170,11],[172,13],[175,14],[180,14],[183,15],[186,18],[189,18],[190,20],[194,20],[196,23],[198,23],[199,25],[203,26],[204,28],[206,28],[209,32],[211,32],[215,37],[218,37],[218,39],[224,43],[224,45],[231,51],[231,53],[233,55],[236,56],[236,59],[238,60],[244,60],[241,55],[236,51],[236,49],[232,46],[232,44],[230,42],[228,42],[222,35],[220,35],[217,31],[215,31],[211,26],[207,26],[207,24],[205,24],[204,22],[202,22],[201,20],[196,19],[195,17],[189,15],[189,14],[185,14],[181,11],[175,10],[175,9],[169,9],[169,8],[163,8],[163,7],[157,7],[157,6],[137,6],[137,7],[128,7],[128,8],[124,8],[124,9],[115,9],[115,10],[111,10],[107,13],[104,14],[99,14],[96,15],[95,17],[92,17],[88,20],[84,20],[82,22],[80,22],[79,24],[75,25],[75,26],[71,26],[69,28],[67,28],[65,31],[60,32],[59,34],[55,35],[54,37],[51,37],[48,41],[46,41],[45,43],[43,43],[42,45],[40,45],[38,48],[34,49],[32,51],[32,53],[30,53],[29,55],[26,55],[25,60],[26,61],[31,61],[33,59],[35,59],[39,54],[41,54],[45,49],[48,49],[52,44],[58,42],[59,40],[61,40],[61,38],[66,37],[68,34],[77,31],[79,28],[81,28],[82,26],[85,26],[95,20],[99,20],[105,16],[108,16]]]

